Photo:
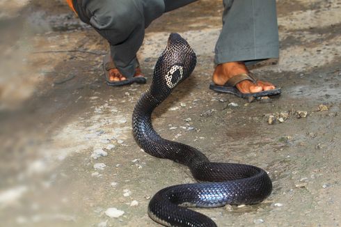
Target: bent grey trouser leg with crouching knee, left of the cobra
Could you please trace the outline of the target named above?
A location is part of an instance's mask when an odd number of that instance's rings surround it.
[[[133,77],[136,52],[145,28],[164,13],[164,0],[79,0],[79,17],[109,41],[111,57],[122,75]]]

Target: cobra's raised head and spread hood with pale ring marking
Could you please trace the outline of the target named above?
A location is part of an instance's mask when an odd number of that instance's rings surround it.
[[[177,84],[189,77],[196,67],[196,54],[177,33],[170,33],[166,49],[154,68],[152,88],[170,93]]]

